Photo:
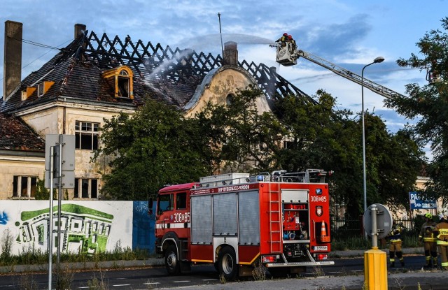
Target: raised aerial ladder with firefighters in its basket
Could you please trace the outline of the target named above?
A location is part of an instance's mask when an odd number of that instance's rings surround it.
[[[387,87],[379,85],[376,82],[372,82],[372,80],[362,78],[360,75],[337,66],[336,64],[332,64],[328,60],[316,55],[311,55],[311,53],[304,52],[303,50],[297,50],[295,43],[293,42],[279,43],[272,46],[276,47],[276,62],[283,66],[293,66],[297,64],[297,59],[302,57],[314,62],[314,64],[318,64],[319,66],[329,69],[333,73],[342,76],[342,78],[346,78],[347,80],[356,82],[359,85],[363,85],[372,92],[384,96],[387,99],[393,99],[395,96],[402,96],[402,94],[395,92],[392,89],[388,89]]]

